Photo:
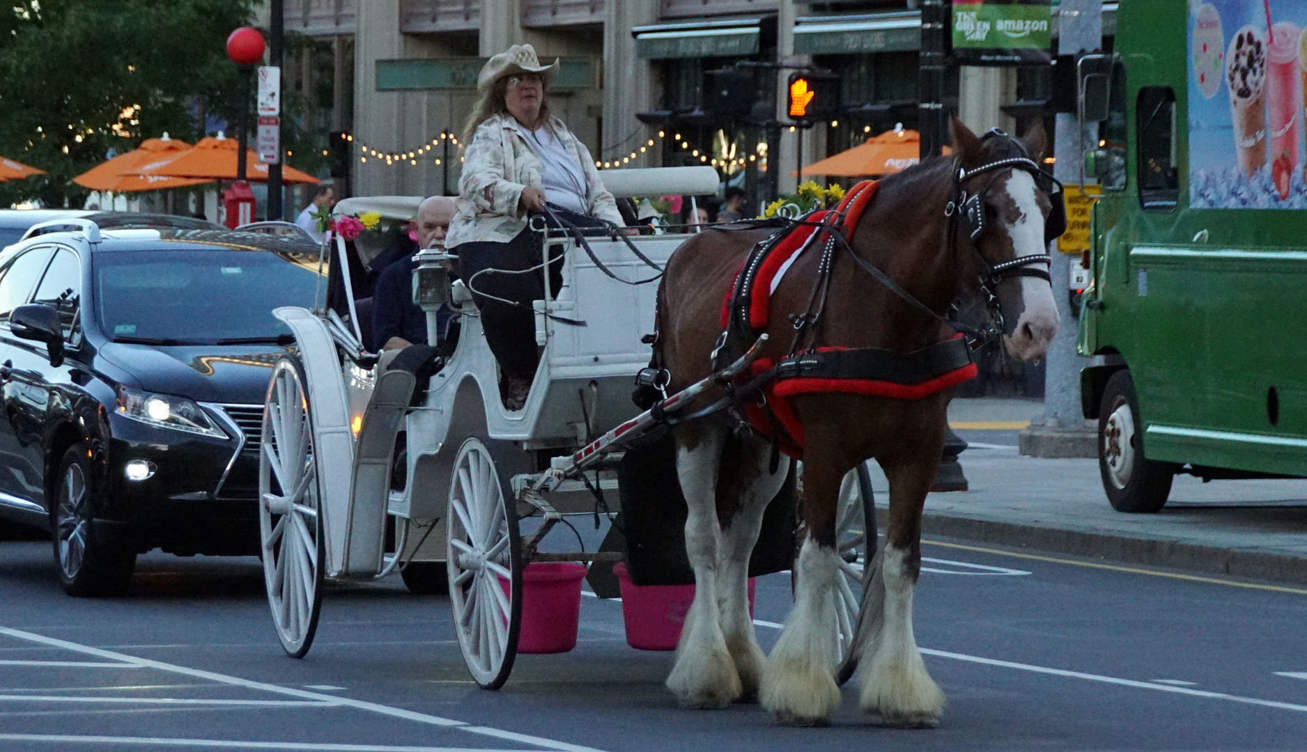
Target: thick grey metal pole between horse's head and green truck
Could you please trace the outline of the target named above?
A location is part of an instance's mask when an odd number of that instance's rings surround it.
[[[1059,54],[1080,55],[1102,48],[1102,0],[1063,0],[1057,21]],[[1077,166],[1085,158],[1081,142],[1097,144],[1097,131],[1082,136],[1076,115],[1059,114],[1053,146],[1056,157],[1053,176],[1059,180],[1070,184],[1080,179]],[[1086,364],[1086,359],[1076,354],[1080,321],[1070,308],[1070,298],[1067,294],[1072,257],[1059,253],[1056,242],[1048,251],[1053,257],[1050,274],[1061,324],[1057,328],[1057,337],[1048,347],[1044,415],[1021,432],[1018,443],[1021,453],[1031,457],[1095,457],[1097,432],[1086,428],[1080,405],[1080,369]]]

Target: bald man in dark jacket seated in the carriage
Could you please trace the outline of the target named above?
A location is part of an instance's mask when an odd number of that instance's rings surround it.
[[[431,196],[417,210],[417,240],[421,248],[444,248],[444,232],[457,212],[454,200]],[[372,294],[372,342],[382,350],[403,350],[414,342],[426,342],[426,312],[413,303],[413,256],[392,262],[376,278]],[[437,330],[443,336],[450,312],[440,308]],[[437,345],[431,342],[431,345]]]

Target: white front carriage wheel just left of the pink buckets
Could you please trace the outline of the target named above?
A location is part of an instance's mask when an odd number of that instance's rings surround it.
[[[521,554],[515,504],[490,449],[468,439],[450,482],[450,603],[463,659],[484,689],[508,680],[521,628]]]

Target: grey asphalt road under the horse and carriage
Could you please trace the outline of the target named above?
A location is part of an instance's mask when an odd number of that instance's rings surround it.
[[[1307,748],[1307,590],[961,542],[924,555],[916,634],[949,710],[904,731],[863,717],[852,685],[827,728],[681,710],[672,655],[627,648],[616,602],[583,598],[575,651],[519,657],[485,692],[447,601],[393,578],[332,586],[295,661],[257,560],[148,555],[128,597],[89,601],[59,590],[48,544],[0,543],[0,749]],[[787,576],[759,581],[765,648],[788,604]]]

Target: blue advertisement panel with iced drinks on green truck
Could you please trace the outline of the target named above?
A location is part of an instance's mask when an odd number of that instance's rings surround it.
[[[1307,209],[1304,26],[1307,0],[1191,0],[1192,208]]]

